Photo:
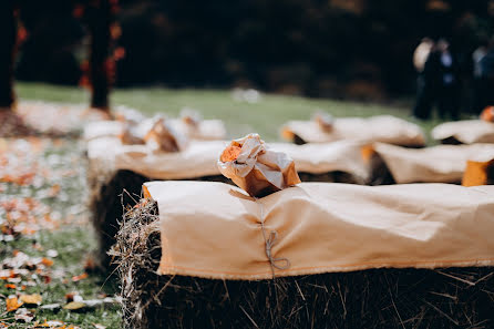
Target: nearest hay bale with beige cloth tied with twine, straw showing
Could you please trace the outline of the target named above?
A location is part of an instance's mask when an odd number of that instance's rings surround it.
[[[493,322],[494,187],[151,182],[113,255],[125,328]]]

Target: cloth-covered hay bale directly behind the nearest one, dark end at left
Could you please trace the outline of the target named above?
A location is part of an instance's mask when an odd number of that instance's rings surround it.
[[[100,239],[99,259],[107,267],[106,251],[114,243],[123,206],[136,203],[141,186],[152,179],[225,182],[216,163],[227,142],[192,141],[181,152],[155,152],[147,145],[123,145],[117,137],[88,142],[90,209]],[[270,144],[294,160],[302,182],[364,184],[369,168],[361,144],[341,141],[320,145]]]

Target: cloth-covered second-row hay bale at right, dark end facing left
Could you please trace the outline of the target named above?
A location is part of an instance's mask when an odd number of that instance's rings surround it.
[[[494,144],[408,148],[374,143],[363,147],[362,156],[371,167],[370,182],[375,185],[394,183],[461,184],[469,162],[488,163],[494,160]],[[488,173],[488,166],[485,166],[483,171]],[[482,184],[475,185],[488,184],[490,181],[484,178]]]

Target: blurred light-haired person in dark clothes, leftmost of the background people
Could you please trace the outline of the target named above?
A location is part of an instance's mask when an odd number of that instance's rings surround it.
[[[434,48],[432,39],[423,38],[413,53],[413,65],[419,73],[416,79],[416,104],[413,107],[413,115],[419,119],[429,117],[435,93],[434,83],[431,81],[429,72],[425,71],[425,63]]]

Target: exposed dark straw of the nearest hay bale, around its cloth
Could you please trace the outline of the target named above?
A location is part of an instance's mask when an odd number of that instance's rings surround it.
[[[124,214],[116,245],[125,328],[488,328],[493,268],[372,269],[272,280],[156,274],[157,205]]]

